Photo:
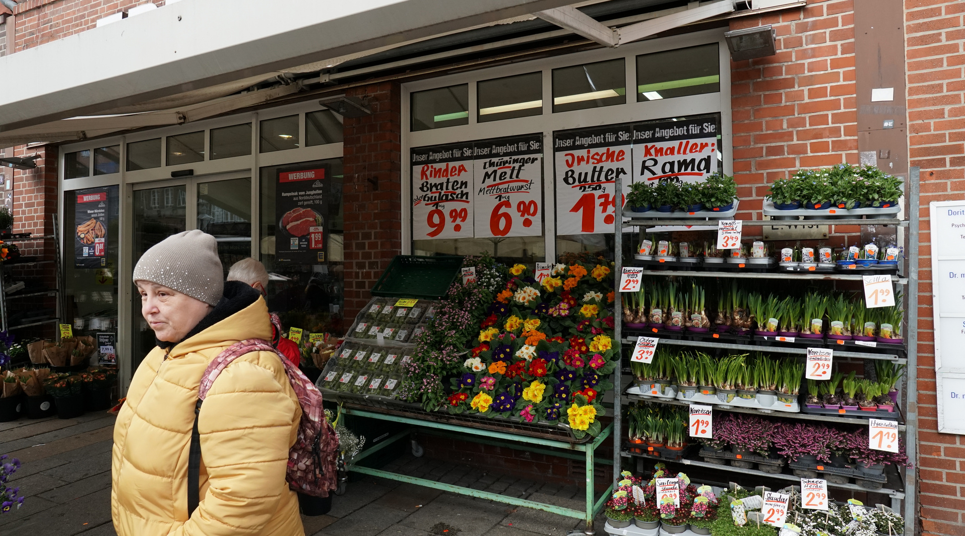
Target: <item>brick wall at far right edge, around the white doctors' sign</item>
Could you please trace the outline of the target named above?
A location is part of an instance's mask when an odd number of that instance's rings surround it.
[[[965,2],[904,0],[910,165],[922,168],[918,411],[923,534],[965,534],[965,437],[938,434],[928,203],[965,198]]]

